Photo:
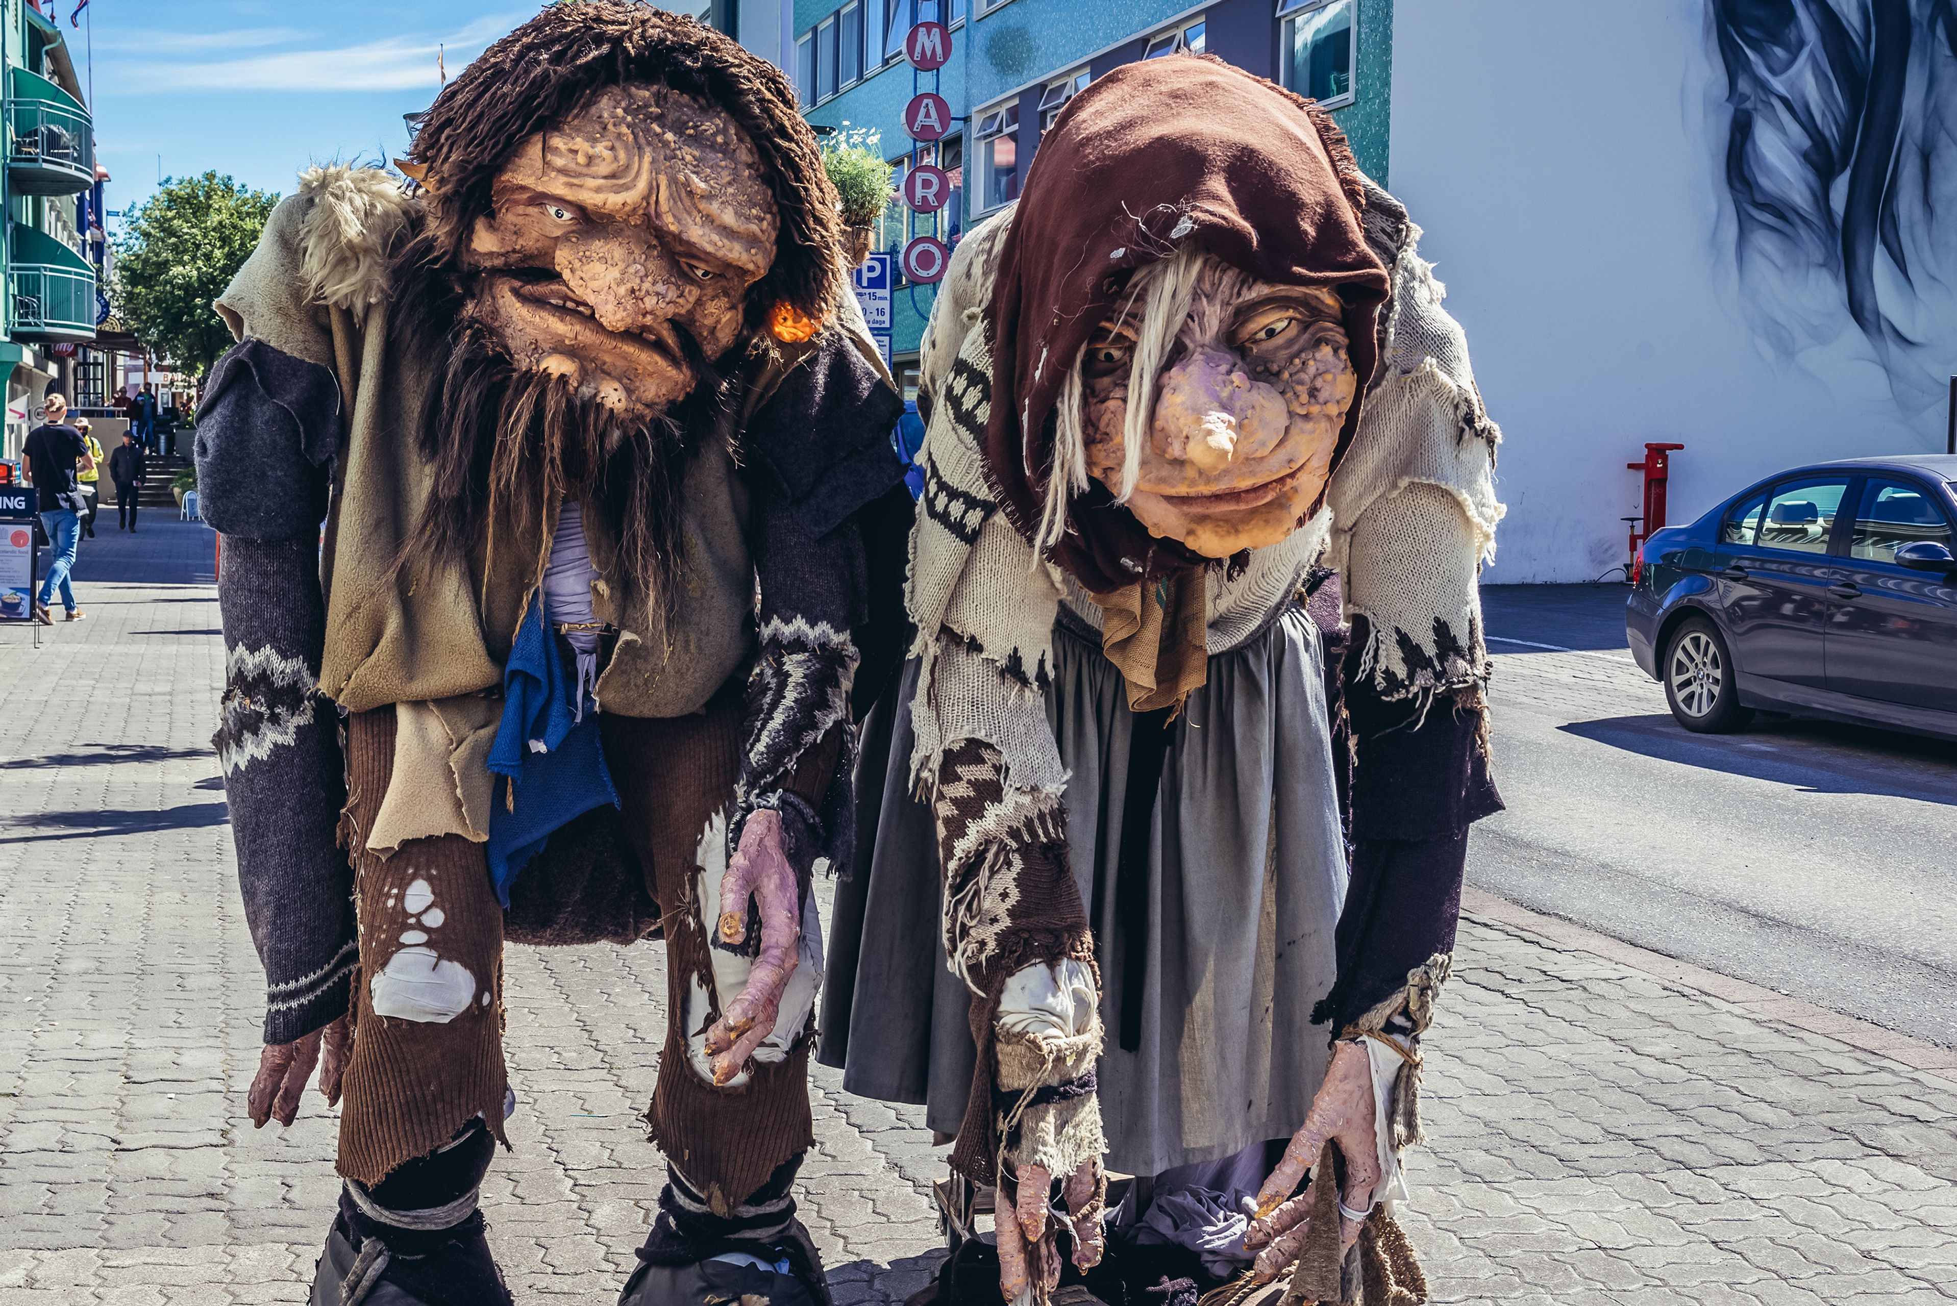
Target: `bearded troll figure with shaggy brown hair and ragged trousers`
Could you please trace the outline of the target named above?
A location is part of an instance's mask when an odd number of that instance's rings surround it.
[[[503,944],[642,938],[669,1181],[622,1300],[826,1302],[810,868],[908,522],[834,188],[781,72],[626,0],[491,45],[403,172],[301,178],[198,422],[250,1112],[344,1095],[313,1302],[509,1300]]]

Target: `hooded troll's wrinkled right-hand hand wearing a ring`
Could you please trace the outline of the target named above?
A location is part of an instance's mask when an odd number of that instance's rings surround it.
[[[1243,1245],[1247,1251],[1264,1247],[1258,1251],[1256,1265],[1252,1267],[1258,1283],[1270,1283],[1282,1275],[1305,1245],[1311,1204],[1319,1185],[1331,1183],[1331,1175],[1323,1173],[1327,1167],[1319,1167],[1321,1173],[1311,1177],[1311,1185],[1301,1195],[1290,1200],[1286,1200],[1286,1195],[1317,1163],[1327,1140],[1337,1142],[1339,1152],[1344,1154],[1346,1181],[1341,1200],[1346,1210],[1372,1208],[1372,1191],[1380,1183],[1378,1138],[1372,1101],[1372,1058],[1368,1058],[1362,1042],[1341,1042],[1333,1048],[1331,1069],[1325,1071],[1325,1083],[1319,1085],[1317,1097],[1311,1099],[1311,1110],[1305,1112],[1303,1128],[1292,1136],[1292,1144],[1284,1150],[1284,1159],[1270,1171],[1270,1179],[1264,1181],[1264,1187],[1256,1195],[1256,1218],[1251,1220],[1251,1228],[1243,1236]],[[1350,1247],[1358,1240],[1358,1220],[1341,1216],[1341,1247]]]

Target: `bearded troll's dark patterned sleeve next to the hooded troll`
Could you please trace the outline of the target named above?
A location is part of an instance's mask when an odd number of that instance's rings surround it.
[[[902,495],[890,430],[904,405],[842,330],[791,371],[748,420],[759,587],[744,755],[730,839],[748,815],[781,813],[789,860],[847,860],[851,686],[871,616],[863,510]]]

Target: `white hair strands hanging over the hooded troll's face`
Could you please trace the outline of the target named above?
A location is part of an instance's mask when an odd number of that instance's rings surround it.
[[[1115,502],[1127,502],[1135,493],[1135,479],[1141,475],[1141,448],[1155,424],[1155,381],[1168,362],[1176,344],[1176,334],[1190,315],[1196,299],[1196,278],[1211,258],[1192,246],[1182,246],[1168,258],[1135,270],[1127,283],[1127,299],[1121,303],[1117,325],[1137,321],[1135,354],[1127,370],[1127,420],[1121,426],[1121,493]],[[1088,489],[1088,448],[1086,448],[1086,385],[1080,381],[1080,366],[1086,352],[1100,336],[1100,328],[1080,346],[1067,375],[1061,379],[1061,395],[1055,403],[1053,463],[1047,469],[1047,501],[1039,512],[1039,536],[1033,540],[1035,567],[1045,557],[1061,534],[1067,530],[1067,502]]]

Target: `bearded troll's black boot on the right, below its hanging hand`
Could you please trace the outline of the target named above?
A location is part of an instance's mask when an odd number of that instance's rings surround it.
[[[791,1189],[800,1167],[800,1155],[783,1161],[726,1218],[667,1167],[660,1216],[638,1249],[638,1269],[618,1306],[708,1306],[750,1294],[769,1306],[832,1306],[822,1257],[795,1218]]]

